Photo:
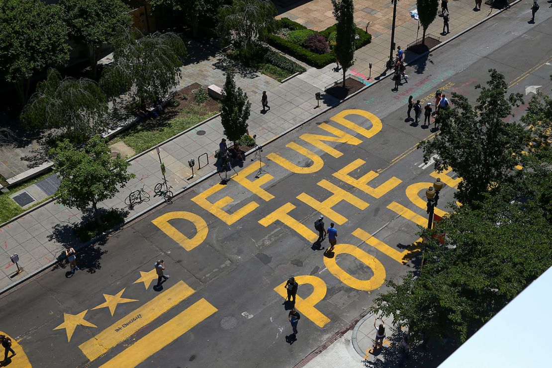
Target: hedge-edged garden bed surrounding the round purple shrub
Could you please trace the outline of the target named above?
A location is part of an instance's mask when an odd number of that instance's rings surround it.
[[[332,46],[332,39],[335,39],[336,25],[332,25],[323,31],[315,32],[304,25],[288,18],[278,19],[277,25],[280,29],[280,34],[268,35],[267,42],[278,50],[286,52],[287,54],[304,61],[310,66],[316,68],[322,68],[326,65],[336,61],[336,55],[333,50],[325,54],[317,54],[311,50],[308,50],[304,44],[310,35],[322,35],[326,41]],[[370,43],[372,36],[366,33],[363,29],[357,27],[358,40],[355,40],[355,49],[359,49]]]

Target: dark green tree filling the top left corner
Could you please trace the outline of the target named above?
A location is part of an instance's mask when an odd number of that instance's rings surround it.
[[[40,0],[0,0],[0,78],[15,84],[22,106],[33,74],[69,59],[61,14]]]

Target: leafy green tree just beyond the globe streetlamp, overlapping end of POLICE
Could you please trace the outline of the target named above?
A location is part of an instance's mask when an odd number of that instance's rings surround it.
[[[455,198],[465,205],[509,180],[527,141],[521,125],[503,120],[511,115],[513,106],[523,103],[523,96],[517,93],[506,98],[504,76],[494,69],[489,73],[489,87],[475,86],[481,89],[475,107],[468,98],[453,92],[454,107],[439,111],[439,135],[418,145],[425,163],[437,154],[436,170],[452,167],[462,178]]]

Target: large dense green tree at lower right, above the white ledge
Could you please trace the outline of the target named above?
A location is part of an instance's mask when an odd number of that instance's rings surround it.
[[[454,211],[422,232],[446,237],[428,244],[421,274],[389,281],[371,311],[393,314],[414,334],[461,343],[552,265],[552,226],[537,202],[522,202],[508,185],[479,209]]]

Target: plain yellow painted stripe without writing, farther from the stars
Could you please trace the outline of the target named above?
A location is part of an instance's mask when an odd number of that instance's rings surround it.
[[[211,303],[201,298],[176,317],[130,345],[102,367],[135,367],[216,311]]]

